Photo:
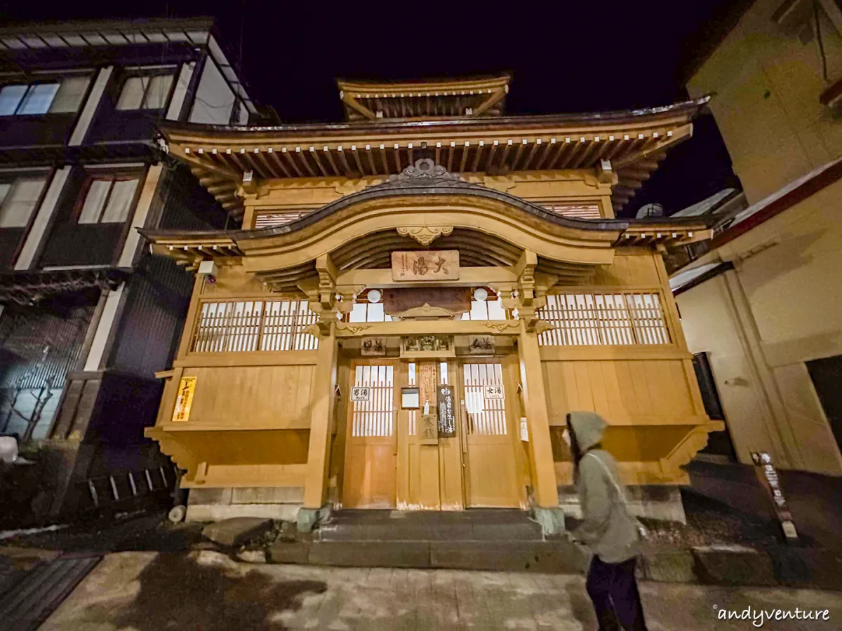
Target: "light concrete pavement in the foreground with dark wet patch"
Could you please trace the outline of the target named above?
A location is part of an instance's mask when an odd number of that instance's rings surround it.
[[[842,592],[643,582],[651,631],[842,627]],[[721,620],[752,607],[818,620]],[[823,611],[828,610],[827,620]],[[801,614],[803,617],[803,614]],[[815,614],[813,614],[815,617]],[[107,555],[42,631],[595,629],[584,579],[457,570],[248,565],[203,550]]]

